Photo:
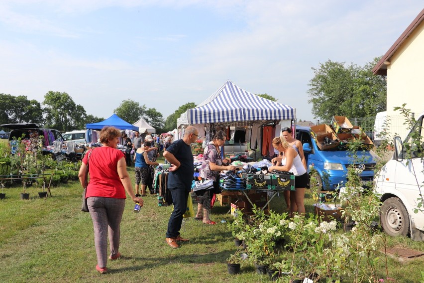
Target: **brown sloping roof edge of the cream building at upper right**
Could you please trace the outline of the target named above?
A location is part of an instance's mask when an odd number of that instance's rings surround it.
[[[424,9],[418,14],[418,16],[411,22],[411,24],[405,29],[405,31],[399,36],[399,38],[393,43],[393,45],[387,50],[386,54],[381,57],[380,61],[372,69],[374,75],[387,76],[387,65],[390,65],[390,60],[393,54],[398,51],[402,43],[411,35],[411,33],[421,24],[424,20]]]

